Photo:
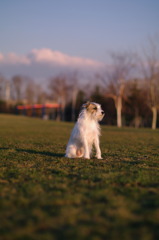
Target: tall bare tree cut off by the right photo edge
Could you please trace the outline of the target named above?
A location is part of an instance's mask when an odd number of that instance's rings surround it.
[[[159,109],[159,45],[157,38],[149,39],[149,46],[144,51],[142,71],[147,89],[147,102],[152,111],[152,129],[156,129]]]

